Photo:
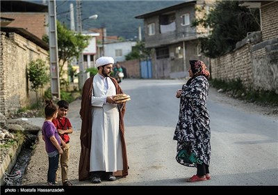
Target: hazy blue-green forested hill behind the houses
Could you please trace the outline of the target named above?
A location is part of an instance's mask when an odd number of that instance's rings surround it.
[[[149,13],[161,8],[167,8],[184,1],[81,1],[82,19],[90,15],[98,15],[97,20],[84,20],[83,30],[106,27],[107,36],[121,36],[126,39],[137,40],[138,26],[143,27],[143,20],[136,19],[137,15]],[[76,1],[57,1],[57,19],[70,28],[70,3],[74,4],[76,15]],[[76,20],[76,17],[75,17]],[[76,25],[76,24],[75,24]],[[142,28],[143,35],[143,28]]]

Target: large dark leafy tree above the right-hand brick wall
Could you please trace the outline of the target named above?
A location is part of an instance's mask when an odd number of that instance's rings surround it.
[[[260,31],[259,18],[259,9],[240,7],[238,1],[217,1],[211,13],[195,20],[192,26],[211,29],[207,38],[199,40],[205,56],[215,58],[233,50],[248,32]]]

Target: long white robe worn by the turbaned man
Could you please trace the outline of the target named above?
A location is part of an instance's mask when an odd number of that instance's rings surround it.
[[[92,144],[90,171],[114,172],[123,169],[122,143],[119,133],[117,104],[109,104],[106,97],[116,95],[116,88],[107,78],[108,89],[101,75],[95,75],[92,91]]]

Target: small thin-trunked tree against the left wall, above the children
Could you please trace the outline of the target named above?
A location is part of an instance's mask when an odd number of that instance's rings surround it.
[[[27,73],[31,82],[31,90],[35,91],[38,107],[38,90],[50,81],[49,68],[42,59],[37,59],[29,63]]]

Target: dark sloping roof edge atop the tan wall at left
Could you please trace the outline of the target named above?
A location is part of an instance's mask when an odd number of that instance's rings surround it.
[[[38,46],[42,47],[42,49],[45,49],[47,51],[49,50],[49,45],[47,45],[46,42],[44,42],[43,40],[41,40],[37,36],[33,35],[29,31],[26,31],[25,29],[1,26],[1,31],[6,32],[6,33],[10,33],[10,32],[17,33],[20,36],[22,36],[22,37],[24,37],[28,40],[31,40],[32,42],[34,42]]]

